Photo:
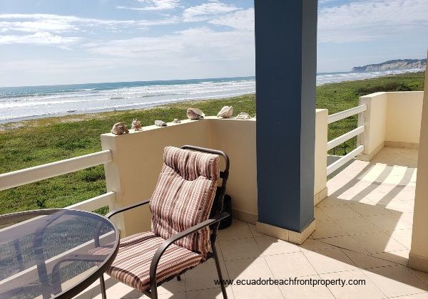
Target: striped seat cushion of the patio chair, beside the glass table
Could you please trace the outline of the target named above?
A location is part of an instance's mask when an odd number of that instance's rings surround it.
[[[149,270],[152,258],[163,241],[164,238],[150,231],[123,238],[118,255],[107,271],[108,275],[137,290],[146,290],[150,286]],[[156,280],[159,282],[194,267],[200,263],[201,258],[198,253],[172,244],[159,261]]]

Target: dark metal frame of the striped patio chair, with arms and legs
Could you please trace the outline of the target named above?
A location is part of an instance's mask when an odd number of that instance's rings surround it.
[[[144,290],[143,293],[148,295],[152,299],[158,299],[158,285],[161,285],[162,283],[165,283],[169,280],[172,280],[173,278],[177,278],[178,280],[180,280],[180,276],[182,274],[184,274],[186,271],[190,270],[191,268],[195,268],[195,267],[186,268],[184,271],[181,271],[180,273],[177,273],[173,276],[169,276],[165,280],[162,280],[159,282],[156,281],[156,269],[158,267],[159,261],[161,260],[161,256],[165,252],[165,250],[171,244],[173,244],[175,241],[180,240],[180,238],[184,238],[185,236],[193,234],[196,231],[199,231],[200,229],[203,229],[204,227],[209,226],[210,231],[211,231],[210,242],[211,242],[212,251],[208,252],[207,258],[205,259],[205,261],[208,261],[208,259],[210,259],[210,258],[214,258],[215,268],[217,269],[218,279],[220,280],[220,288],[221,288],[221,291],[223,293],[223,298],[228,299],[228,295],[226,293],[226,288],[225,288],[225,283],[223,281],[223,275],[221,273],[220,262],[218,260],[218,252],[217,252],[217,249],[215,248],[215,240],[217,238],[218,226],[220,224],[220,221],[223,219],[226,219],[230,216],[229,213],[222,211],[223,199],[224,199],[224,196],[226,193],[226,183],[228,182],[228,177],[229,177],[229,167],[230,167],[229,157],[227,154],[225,154],[225,152],[220,151],[220,150],[211,150],[211,149],[207,149],[204,147],[195,147],[192,145],[183,145],[183,147],[181,147],[181,148],[183,150],[194,150],[194,151],[198,151],[198,152],[207,152],[210,154],[218,154],[221,157],[223,157],[223,159],[225,159],[225,169],[223,172],[220,172],[220,179],[222,179],[222,184],[221,184],[220,190],[219,190],[219,200],[218,200],[217,206],[214,207],[216,213],[215,213],[215,216],[213,218],[210,218],[206,221],[201,222],[200,224],[197,224],[195,226],[190,227],[189,229],[186,229],[185,231],[181,231],[180,233],[175,234],[174,236],[171,236],[170,238],[165,240],[161,244],[161,246],[158,247],[155,255],[153,256],[153,259],[151,261],[151,266],[150,266],[150,289]],[[111,211],[110,213],[106,214],[106,217],[108,219],[111,219],[111,217],[116,215],[116,214],[122,213],[123,211],[128,211],[130,209],[134,209],[138,206],[143,206],[145,204],[148,204],[149,202],[150,202],[150,199],[147,199],[145,201],[138,202],[137,204],[131,204],[130,206],[124,206],[122,209],[118,209],[116,211]],[[205,261],[201,261],[200,263],[204,263]],[[100,284],[101,284],[102,297],[103,297],[103,299],[106,299],[106,284],[104,283],[103,276],[101,276],[101,278],[100,278]]]

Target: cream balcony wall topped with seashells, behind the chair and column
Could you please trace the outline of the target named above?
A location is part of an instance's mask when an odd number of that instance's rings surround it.
[[[327,110],[317,110],[315,146],[315,201],[327,196]],[[256,121],[218,119],[183,120],[167,127],[148,126],[127,135],[101,135],[103,150],[111,150],[112,162],[105,165],[108,192],[115,192],[113,208],[149,199],[163,162],[163,148],[198,145],[225,151],[230,157],[227,193],[233,198],[233,216],[255,223],[258,220]],[[277,138],[281,138],[278,136]],[[290,145],[292,146],[292,145]],[[272,150],[281,150],[272,149]],[[292,157],[285,157],[292,159]],[[272,172],[277,172],[272,165]],[[126,211],[113,219],[121,236],[150,229],[148,206]]]

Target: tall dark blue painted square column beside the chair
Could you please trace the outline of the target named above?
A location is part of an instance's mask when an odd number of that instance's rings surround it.
[[[314,219],[317,0],[255,0],[258,221]]]

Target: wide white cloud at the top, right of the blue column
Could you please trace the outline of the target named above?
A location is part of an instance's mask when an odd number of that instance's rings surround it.
[[[427,33],[427,0],[362,0],[320,9],[318,41],[372,41],[394,34]]]

